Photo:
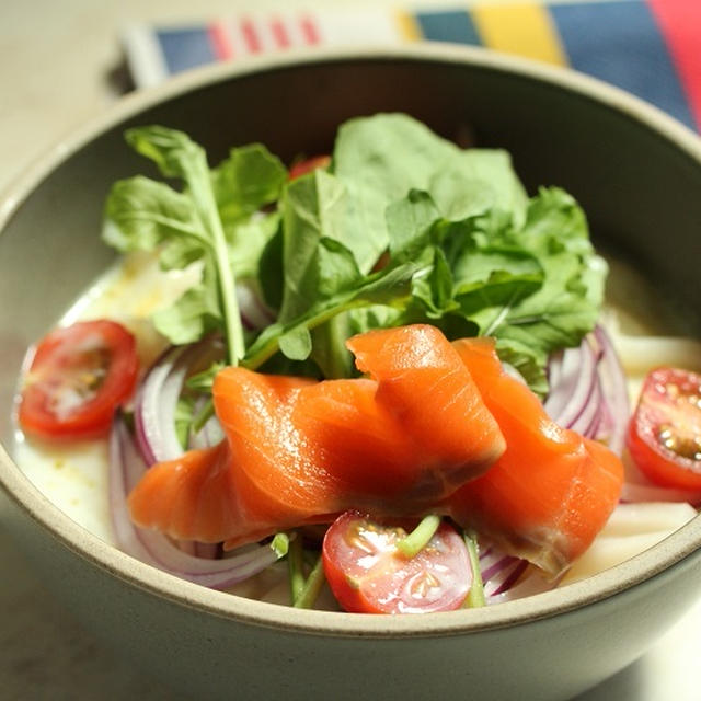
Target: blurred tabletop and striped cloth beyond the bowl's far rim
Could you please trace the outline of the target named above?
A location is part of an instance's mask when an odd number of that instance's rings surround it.
[[[699,0],[24,0],[0,9],[0,188],[125,92],[191,67],[426,39],[571,66],[701,125]]]

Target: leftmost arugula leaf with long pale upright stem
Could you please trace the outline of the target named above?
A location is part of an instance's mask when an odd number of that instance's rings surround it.
[[[182,131],[159,126],[129,129],[126,139],[185,187],[177,192],[142,176],[116,183],[105,206],[103,239],[123,252],[159,249],[165,269],[200,262],[199,283],[160,311],[156,326],[176,344],[222,330],[229,360],[235,364],[244,354],[237,268],[253,274],[277,229],[275,215],[253,219],[253,214],[277,198],[285,168],[252,145],[233,149],[210,171],[200,146]]]

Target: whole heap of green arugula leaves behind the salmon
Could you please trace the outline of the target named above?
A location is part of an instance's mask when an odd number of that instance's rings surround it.
[[[342,125],[327,170],[288,182],[261,145],[209,170],[182,133],[127,139],[183,182],[182,192],[142,176],[116,183],[104,228],[122,251],[199,266],[199,281],[156,318],[174,343],[222,331],[230,361],[349,377],[350,335],[432,323],[450,338],[494,336],[544,394],[548,356],[598,317],[606,265],[582,209],[555,187],[529,199],[504,151],[462,150],[406,115],[379,114]],[[244,336],[235,276],[278,310],[275,323]]]

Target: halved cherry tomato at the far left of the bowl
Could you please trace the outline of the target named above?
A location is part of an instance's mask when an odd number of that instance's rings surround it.
[[[37,345],[24,378],[20,425],[49,439],[100,436],[134,391],[137,371],[136,342],[120,324],[55,329]]]

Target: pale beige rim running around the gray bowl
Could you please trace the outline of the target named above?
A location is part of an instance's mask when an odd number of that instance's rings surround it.
[[[552,88],[565,90],[625,114],[632,120],[656,131],[678,150],[696,160],[701,168],[701,139],[690,129],[642,100],[571,69],[512,57],[491,49],[447,44],[298,49],[196,69],[156,88],[123,97],[104,114],[60,139],[5,188],[0,195],[0,235],[21,204],[62,161],[106,130],[164,100],[228,79],[291,67],[397,60],[469,64],[476,68],[512,73],[550,84]],[[88,532],[44,496],[14,464],[2,445],[0,487],[4,489],[10,499],[25,515],[48,531],[50,538],[130,586],[202,613],[245,624],[324,636],[444,636],[524,624],[619,595],[671,568],[701,548],[701,518],[697,516],[663,542],[610,570],[561,589],[503,602],[495,607],[406,617],[300,610],[206,589],[120,552]]]

